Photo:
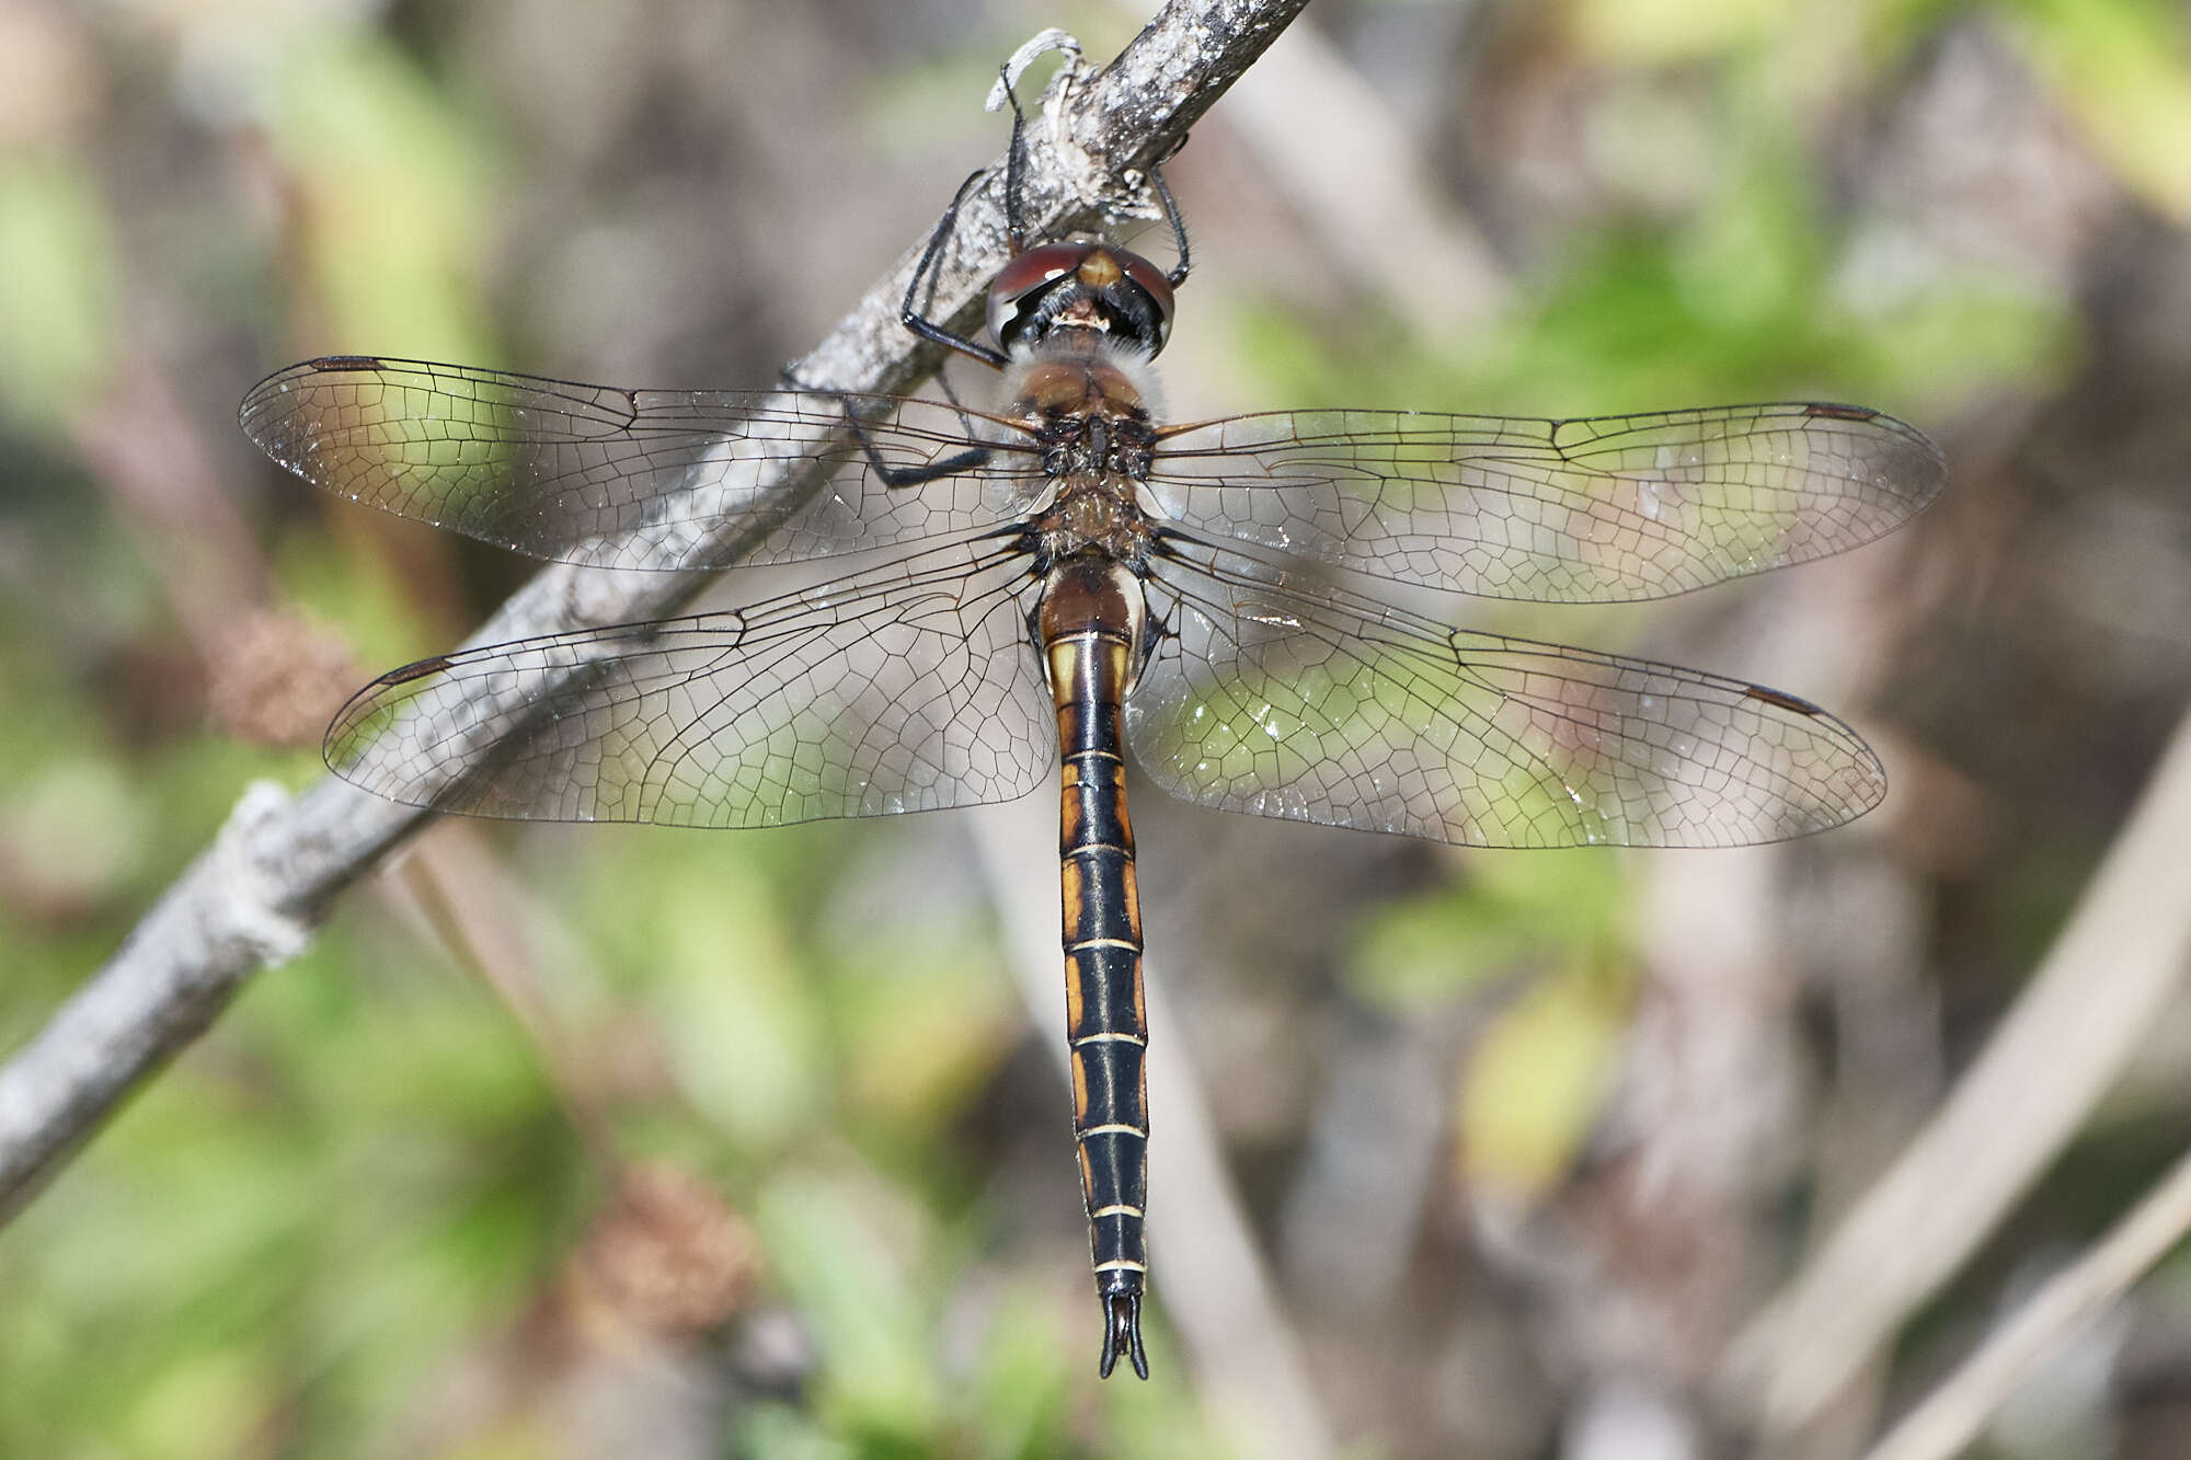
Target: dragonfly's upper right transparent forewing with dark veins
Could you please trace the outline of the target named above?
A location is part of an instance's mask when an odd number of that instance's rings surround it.
[[[1174,427],[1150,491],[1203,535],[1492,598],[1621,603],[1895,531],[1939,447],[1856,406],[1584,421],[1290,410]]]

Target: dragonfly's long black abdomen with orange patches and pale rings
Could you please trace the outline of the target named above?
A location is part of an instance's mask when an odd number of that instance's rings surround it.
[[[1102,1372],[1142,1355],[1148,1274],[1148,1085],[1142,1004],[1142,901],[1133,883],[1120,708],[1142,651],[1142,585],[1106,557],[1058,563],[1043,585],[1039,631],[1065,756],[1058,853],[1065,905],[1065,1037],[1074,1136],[1089,1212]]]

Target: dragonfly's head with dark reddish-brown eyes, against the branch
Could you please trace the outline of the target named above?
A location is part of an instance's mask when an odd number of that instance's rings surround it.
[[[1102,239],[1030,248],[988,285],[988,333],[1012,353],[1054,329],[1096,329],[1155,355],[1172,333],[1172,283]]]

